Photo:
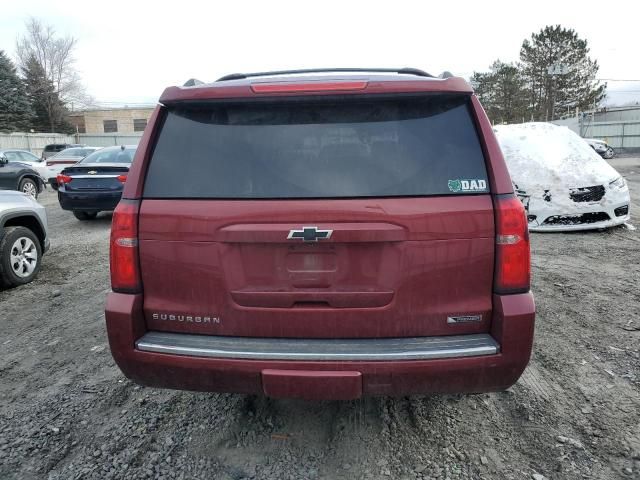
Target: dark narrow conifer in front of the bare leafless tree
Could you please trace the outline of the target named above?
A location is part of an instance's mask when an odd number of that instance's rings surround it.
[[[67,109],[40,63],[35,58],[30,59],[22,73],[35,112],[33,128],[38,132],[73,132],[73,127],[65,120]]]

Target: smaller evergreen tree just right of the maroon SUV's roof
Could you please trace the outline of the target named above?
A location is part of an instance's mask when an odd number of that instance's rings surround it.
[[[494,123],[529,119],[527,83],[516,65],[496,60],[489,72],[474,72],[471,83]]]

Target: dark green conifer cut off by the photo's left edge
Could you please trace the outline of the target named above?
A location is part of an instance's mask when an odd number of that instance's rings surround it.
[[[33,111],[13,62],[0,50],[0,132],[25,132]]]

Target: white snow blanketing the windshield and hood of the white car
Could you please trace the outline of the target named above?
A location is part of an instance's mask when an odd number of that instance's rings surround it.
[[[511,179],[532,196],[545,190],[569,200],[573,188],[605,185],[620,176],[582,138],[550,123],[499,125],[494,128]]]

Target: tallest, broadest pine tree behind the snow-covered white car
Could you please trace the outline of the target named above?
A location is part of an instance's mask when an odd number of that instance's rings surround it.
[[[596,80],[598,62],[586,40],[572,29],[547,26],[525,40],[520,50],[523,74],[536,120],[553,120],[567,110],[588,110],[605,96]]]

